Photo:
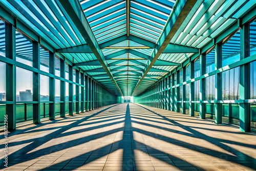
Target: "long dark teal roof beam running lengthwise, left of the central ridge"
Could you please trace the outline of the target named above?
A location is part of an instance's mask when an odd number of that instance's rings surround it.
[[[87,42],[88,46],[94,53],[95,57],[99,60],[101,66],[105,70],[105,72],[109,75],[115,86],[117,87],[117,90],[122,95],[121,90],[119,89],[112,72],[110,70],[110,67],[108,65],[108,62],[106,62],[106,59],[104,58],[104,55],[102,51],[100,50],[100,47],[98,45],[98,42],[92,32],[92,29],[88,23],[88,20],[86,16],[84,15],[84,12],[81,8],[81,5],[78,1],[69,1],[69,0],[61,0],[57,1],[59,5],[63,7],[63,9],[67,12],[68,16],[73,23],[75,24],[76,28],[80,32],[83,39]]]

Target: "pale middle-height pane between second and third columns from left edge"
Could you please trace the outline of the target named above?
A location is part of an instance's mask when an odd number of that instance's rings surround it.
[[[49,77],[40,75],[40,100],[49,101]]]

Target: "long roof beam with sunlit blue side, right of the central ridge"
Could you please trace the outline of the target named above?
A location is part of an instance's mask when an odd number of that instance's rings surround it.
[[[146,74],[151,70],[152,66],[154,65],[158,57],[168,46],[170,40],[174,37],[175,33],[181,27],[182,23],[184,22],[185,18],[187,17],[191,9],[194,7],[196,2],[196,0],[182,0],[178,2],[176,9],[170,14],[166,22],[165,28],[157,41],[157,45],[154,48],[150,59],[148,59],[146,63],[145,69],[141,75],[141,79],[138,81],[137,86],[133,90],[132,95],[139,87],[141,81],[146,76]]]

